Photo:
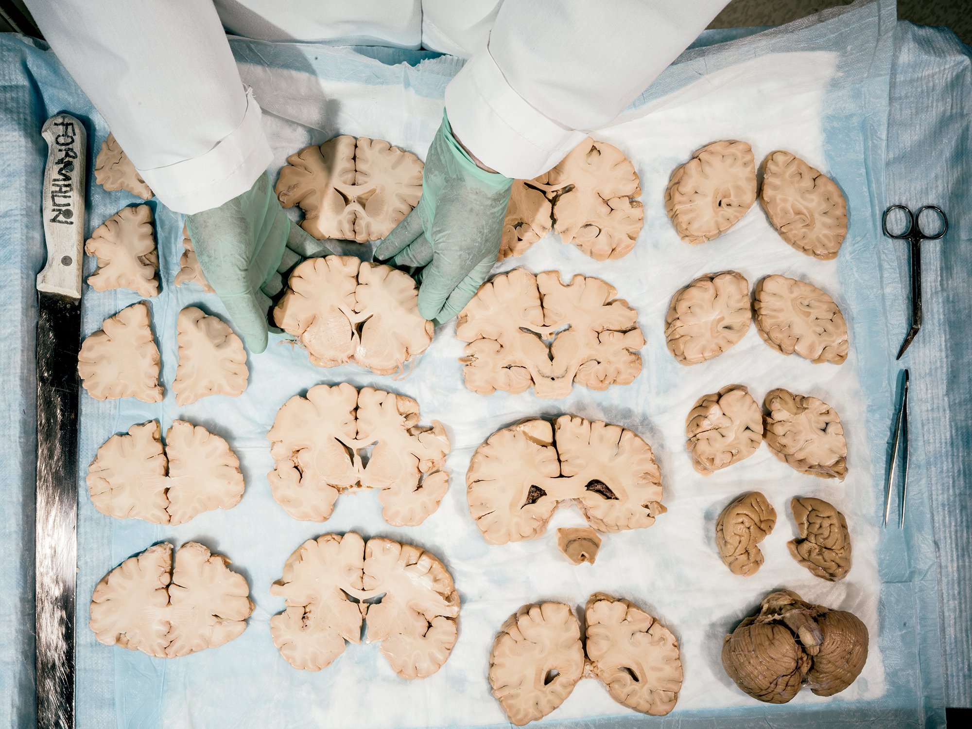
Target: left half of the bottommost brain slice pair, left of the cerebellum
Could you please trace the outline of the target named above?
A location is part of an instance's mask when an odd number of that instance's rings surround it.
[[[580,625],[563,603],[525,605],[493,642],[489,682],[517,726],[543,718],[571,695],[584,672]]]

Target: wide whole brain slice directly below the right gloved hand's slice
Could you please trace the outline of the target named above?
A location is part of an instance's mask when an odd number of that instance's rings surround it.
[[[469,390],[563,398],[573,383],[592,390],[628,385],[642,371],[638,312],[605,281],[523,268],[483,284],[460,313],[463,377]],[[553,340],[549,345],[547,342]]]

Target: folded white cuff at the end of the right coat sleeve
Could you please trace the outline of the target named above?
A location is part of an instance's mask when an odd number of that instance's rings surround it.
[[[445,110],[453,133],[469,152],[506,177],[521,180],[546,172],[587,136],[527,103],[485,48],[446,87]]]

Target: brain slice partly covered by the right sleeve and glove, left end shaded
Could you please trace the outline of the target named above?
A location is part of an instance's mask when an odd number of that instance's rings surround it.
[[[585,139],[549,172],[513,182],[500,260],[523,255],[551,229],[595,260],[626,256],[644,223],[636,199],[641,194],[638,173],[624,153]]]

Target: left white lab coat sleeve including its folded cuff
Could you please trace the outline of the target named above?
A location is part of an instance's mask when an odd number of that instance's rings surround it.
[[[179,213],[249,190],[272,159],[211,0],[26,0],[156,197]]]

